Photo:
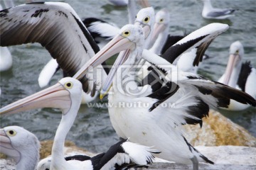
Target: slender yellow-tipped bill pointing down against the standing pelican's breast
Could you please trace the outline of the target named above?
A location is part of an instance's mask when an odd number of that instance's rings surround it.
[[[131,50],[125,50],[119,53],[117,60],[115,60],[110,73],[107,75],[107,80],[102,87],[102,91],[100,92],[100,99],[104,98],[107,95],[107,92],[110,90],[112,86],[112,81],[114,79],[114,74],[117,72],[118,67],[123,64],[130,55]]]

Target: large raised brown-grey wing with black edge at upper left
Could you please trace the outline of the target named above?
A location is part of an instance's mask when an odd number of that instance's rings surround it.
[[[39,42],[70,77],[99,51],[78,14],[65,3],[38,2],[4,9],[0,30],[1,46]]]

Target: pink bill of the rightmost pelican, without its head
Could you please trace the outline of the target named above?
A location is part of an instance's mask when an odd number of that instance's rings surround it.
[[[228,85],[233,69],[238,64],[239,60],[240,60],[239,55],[230,55],[228,59],[227,68],[225,69],[225,77],[224,77],[223,84]]]

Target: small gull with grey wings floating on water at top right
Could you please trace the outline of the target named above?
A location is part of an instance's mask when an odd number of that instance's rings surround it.
[[[235,9],[233,8],[213,8],[213,6],[210,4],[210,0],[203,0],[203,18],[226,19],[230,16],[234,16],[234,11]]]

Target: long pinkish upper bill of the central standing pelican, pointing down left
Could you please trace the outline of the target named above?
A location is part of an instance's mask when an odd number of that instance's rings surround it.
[[[84,64],[80,70],[73,76],[75,79],[81,79],[87,74],[90,68],[95,68],[99,64],[102,64],[105,60],[113,55],[127,49],[134,49],[135,43],[131,42],[128,38],[124,38],[122,35],[117,35],[110,42],[105,45],[97,54],[92,57],[86,64]]]

